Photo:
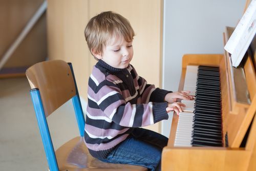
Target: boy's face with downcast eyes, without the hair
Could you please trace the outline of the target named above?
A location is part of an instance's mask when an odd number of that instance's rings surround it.
[[[124,69],[133,58],[133,41],[127,42],[123,37],[113,37],[109,45],[103,47],[103,53],[96,55],[111,67]]]

